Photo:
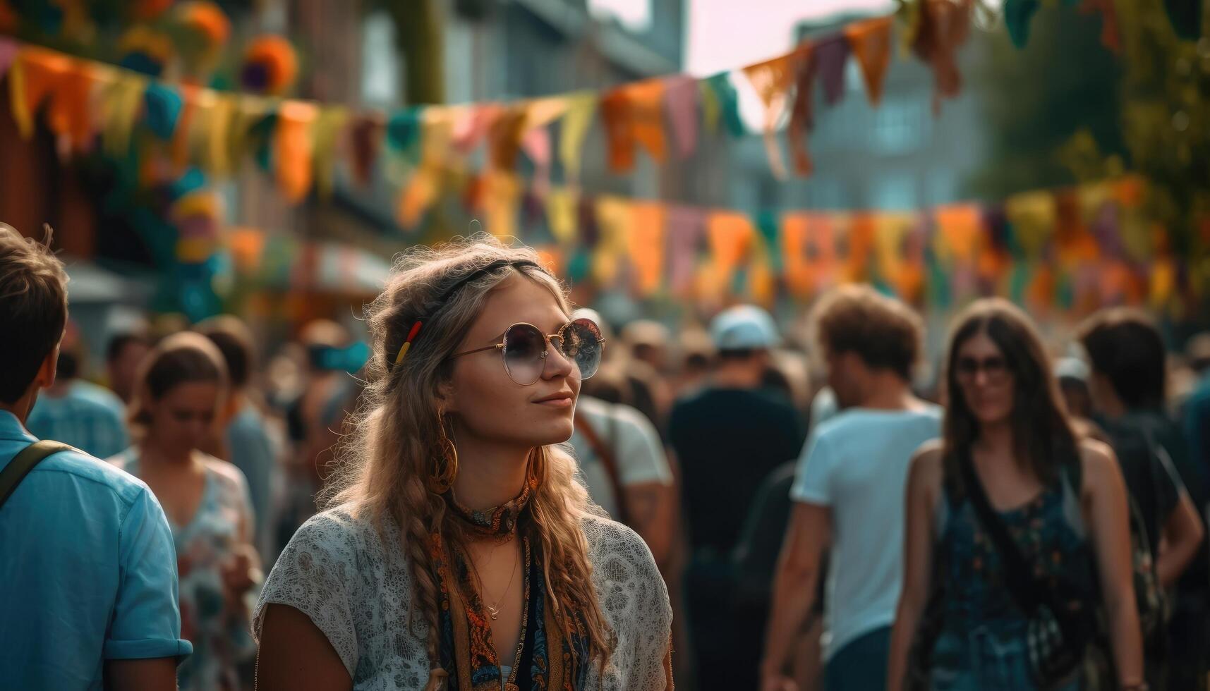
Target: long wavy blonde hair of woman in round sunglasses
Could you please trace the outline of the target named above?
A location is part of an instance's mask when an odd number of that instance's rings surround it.
[[[417,247],[397,259],[392,277],[367,306],[371,356],[367,387],[352,418],[352,430],[338,447],[338,466],[321,496],[324,506],[348,505],[380,528],[386,517],[398,522],[403,547],[416,583],[414,612],[427,623],[428,660],[436,672],[438,650],[438,583],[430,565],[430,535],[439,532],[454,549],[466,536],[446,512],[433,478],[444,462],[438,427],[439,386],[453,372],[449,356],[483,310],[490,293],[514,275],[548,289],[571,313],[557,278],[536,266],[502,266],[462,286],[444,304],[440,295],[463,276],[492,261],[534,261],[526,247],[511,248],[490,236],[456,240],[436,248]],[[416,319],[424,329],[398,367],[392,367]],[[537,447],[530,455],[537,480],[520,530],[541,546],[551,606],[565,637],[581,632],[590,660],[605,664],[615,645],[592,585],[588,542],[581,520],[592,513],[587,490],[576,482],[576,462],[560,445]],[[465,551],[463,551],[465,553]],[[415,618],[411,620],[415,622]],[[413,633],[416,629],[413,627]],[[420,637],[420,634],[416,634]],[[431,673],[426,689],[436,689]]]

